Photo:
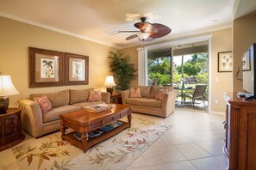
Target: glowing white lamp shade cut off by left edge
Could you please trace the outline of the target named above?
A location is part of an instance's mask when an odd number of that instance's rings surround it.
[[[0,96],[9,96],[14,94],[19,94],[19,92],[11,82],[10,76],[0,75]]]

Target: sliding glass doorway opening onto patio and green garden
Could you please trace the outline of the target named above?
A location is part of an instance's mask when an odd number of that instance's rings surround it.
[[[208,41],[147,51],[147,85],[178,90],[176,106],[208,112]],[[202,97],[194,97],[204,85]]]

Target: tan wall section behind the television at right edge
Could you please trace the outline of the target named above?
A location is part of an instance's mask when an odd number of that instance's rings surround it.
[[[256,11],[233,21],[234,72],[233,91],[243,91],[242,82],[237,80],[238,67],[241,68],[241,56],[256,42]],[[242,77],[240,71],[239,78]]]

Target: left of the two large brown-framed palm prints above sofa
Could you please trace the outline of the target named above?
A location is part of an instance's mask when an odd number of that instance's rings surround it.
[[[28,47],[28,87],[63,85],[63,52]]]

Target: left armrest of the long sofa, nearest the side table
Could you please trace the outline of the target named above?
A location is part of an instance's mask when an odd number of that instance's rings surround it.
[[[41,107],[33,100],[19,100],[22,105],[22,127],[34,137],[41,135],[43,127]]]

